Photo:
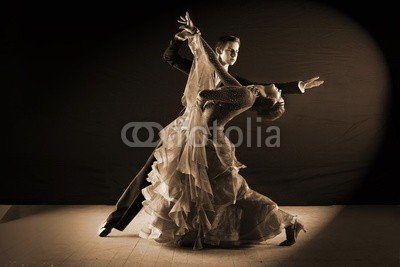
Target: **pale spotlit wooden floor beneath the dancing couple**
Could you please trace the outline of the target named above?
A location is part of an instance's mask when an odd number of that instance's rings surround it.
[[[0,206],[0,215],[6,206]],[[240,249],[192,251],[141,239],[140,213],[124,232],[97,236],[112,206],[13,206],[0,224],[0,266],[400,266],[399,206],[281,207],[305,223]]]

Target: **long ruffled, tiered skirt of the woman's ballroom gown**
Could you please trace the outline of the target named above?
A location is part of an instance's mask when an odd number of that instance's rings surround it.
[[[245,167],[222,130],[209,139],[199,110],[187,110],[160,132],[151,185],[142,193],[150,216],[139,236],[162,243],[240,245],[273,238],[295,217],[249,188]],[[204,128],[206,129],[206,128]],[[194,145],[196,143],[197,145]],[[199,145],[201,144],[201,145]]]

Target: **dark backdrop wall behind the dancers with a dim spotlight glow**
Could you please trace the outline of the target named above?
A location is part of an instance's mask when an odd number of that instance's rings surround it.
[[[287,97],[287,113],[271,124],[281,129],[280,148],[237,149],[251,187],[281,205],[399,203],[400,43],[388,3],[142,4],[3,11],[1,203],[116,202],[152,150],[124,145],[121,128],[165,126],[181,110],[186,77],[162,53],[186,10],[210,43],[226,33],[241,37],[232,73],[326,81]],[[248,116],[232,125],[243,128]]]

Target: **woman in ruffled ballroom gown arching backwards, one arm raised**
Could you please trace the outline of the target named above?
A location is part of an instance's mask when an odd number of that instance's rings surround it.
[[[202,243],[239,245],[257,243],[286,231],[290,246],[304,226],[296,216],[278,208],[268,197],[249,188],[239,169],[245,167],[224,134],[235,116],[253,109],[267,120],[284,112],[284,101],[274,86],[242,86],[221,66],[217,55],[193,26],[181,17],[184,31],[193,36],[189,47],[194,63],[186,84],[184,114],[160,132],[162,145],[142,190],[150,221],[139,236],[178,245]],[[224,87],[213,88],[214,73]],[[216,125],[213,136],[209,131]],[[305,231],[305,230],[304,230]]]

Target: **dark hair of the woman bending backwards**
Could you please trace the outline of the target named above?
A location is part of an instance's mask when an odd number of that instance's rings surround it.
[[[285,102],[282,98],[274,104],[272,99],[257,97],[250,110],[257,112],[257,116],[266,121],[274,121],[285,113]]]

